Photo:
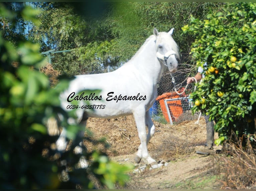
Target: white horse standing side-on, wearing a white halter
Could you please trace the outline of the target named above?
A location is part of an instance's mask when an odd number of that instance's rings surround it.
[[[155,28],[138,52],[116,71],[79,75],[70,82],[67,91],[60,96],[61,107],[71,109],[70,101],[77,100],[72,106],[76,109],[77,121],[86,125],[88,117],[115,118],[125,115],[134,115],[141,144],[135,154],[135,162],[141,159],[146,164],[156,163],[148,153],[147,143],[155,133],[155,126],[151,120],[149,108],[157,97],[157,83],[166,67],[173,73],[179,61],[179,49],[172,38],[173,29],[168,33],[158,32]],[[99,95],[85,95],[84,90],[102,90]],[[90,105],[87,105],[89,101]],[[89,109],[89,108],[92,109]],[[74,121],[73,121],[74,122]],[[145,126],[148,127],[146,134]],[[57,142],[57,149],[63,151],[67,147],[67,131],[63,128]],[[82,139],[75,149],[82,152]],[[81,161],[80,161],[81,163]],[[82,162],[83,163],[83,162]],[[86,167],[84,162],[82,167]]]

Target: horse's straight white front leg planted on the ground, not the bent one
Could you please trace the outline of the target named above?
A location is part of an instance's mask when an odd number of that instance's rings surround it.
[[[146,135],[146,112],[145,108],[137,110],[133,113],[134,119],[136,122],[139,138],[140,138],[140,146],[138,147],[138,151],[136,152],[135,155],[135,162],[139,163],[141,159],[147,163],[147,164],[152,164],[156,162],[154,159],[152,159],[148,153],[147,149],[147,139],[148,137],[151,137],[150,135]],[[150,130],[149,130],[150,131]]]

